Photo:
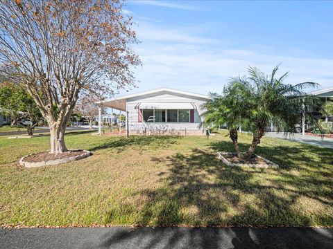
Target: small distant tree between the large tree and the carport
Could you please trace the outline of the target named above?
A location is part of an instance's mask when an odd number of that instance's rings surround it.
[[[99,101],[99,98],[94,95],[84,95],[76,103],[74,112],[83,116],[89,122],[89,129],[92,129],[92,122],[99,115],[99,106],[94,102]]]

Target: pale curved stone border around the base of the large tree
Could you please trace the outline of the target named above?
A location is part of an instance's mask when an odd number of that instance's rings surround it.
[[[80,149],[69,149],[69,151],[79,151]],[[46,152],[46,151],[43,151]],[[70,156],[67,158],[61,158],[61,159],[56,159],[56,160],[49,160],[49,161],[42,161],[42,162],[36,162],[36,163],[29,163],[29,162],[25,162],[24,159],[27,158],[28,156],[31,155],[35,155],[35,154],[40,154],[42,152],[38,152],[38,153],[33,153],[33,154],[28,154],[24,157],[22,157],[21,159],[19,159],[19,165],[22,165],[24,167],[42,167],[42,166],[46,166],[46,165],[58,165],[61,163],[69,163],[69,162],[73,162],[74,160],[79,160],[82,158],[86,158],[88,156],[90,156],[90,151],[87,150],[83,150],[82,151],[83,154],[80,154],[78,156]]]

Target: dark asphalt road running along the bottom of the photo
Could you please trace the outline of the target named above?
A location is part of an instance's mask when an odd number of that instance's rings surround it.
[[[0,228],[0,248],[333,248],[333,228]]]

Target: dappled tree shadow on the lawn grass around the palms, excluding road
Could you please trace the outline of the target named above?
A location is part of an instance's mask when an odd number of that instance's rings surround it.
[[[213,141],[207,150],[193,149],[186,154],[152,158],[157,164],[167,165],[168,170],[160,174],[160,184],[155,188],[133,194],[144,200],[137,204],[135,223],[140,226],[332,225],[332,173],[323,176],[322,170],[326,169],[323,166],[330,166],[311,163],[323,160],[305,153],[311,148],[297,147],[286,154],[288,147],[260,147],[257,154],[284,167],[252,169],[228,167],[216,158],[216,151],[230,151],[230,144]],[[328,156],[326,150],[319,153]],[[307,202],[304,207],[303,201]],[[302,208],[311,211],[307,213]]]

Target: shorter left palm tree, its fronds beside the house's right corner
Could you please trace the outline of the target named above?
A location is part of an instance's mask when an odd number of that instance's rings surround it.
[[[229,136],[234,144],[234,149],[237,156],[241,157],[241,151],[238,144],[238,131],[240,126],[246,127],[249,124],[244,107],[244,99],[250,92],[246,87],[246,82],[241,79],[241,82],[230,82],[224,89],[223,95],[210,93],[210,100],[204,104],[205,113],[203,113],[205,127],[219,129],[223,124],[226,124],[229,131]]]

